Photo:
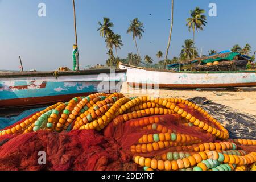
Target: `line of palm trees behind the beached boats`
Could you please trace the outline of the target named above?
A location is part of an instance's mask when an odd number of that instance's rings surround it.
[[[200,7],[196,7],[194,10],[190,11],[189,18],[187,18],[187,24],[188,31],[193,31],[193,40],[187,39],[184,41],[184,44],[181,46],[182,49],[180,51],[179,57],[173,57],[172,60],[167,59],[168,51],[170,48],[170,42],[171,42],[171,33],[172,33],[172,24],[173,24],[173,14],[174,14],[174,0],[172,0],[172,7],[171,7],[171,28],[170,28],[170,35],[168,39],[168,45],[166,50],[166,55],[164,60],[160,60],[163,57],[163,52],[158,51],[156,53],[156,57],[158,58],[158,64],[164,65],[164,68],[166,68],[167,64],[172,63],[178,63],[179,61],[184,60],[190,60],[195,59],[196,57],[199,57],[199,53],[197,52],[197,48],[195,47],[195,33],[199,30],[203,31],[206,26],[207,17],[204,15],[205,10],[200,9]],[[117,49],[121,49],[123,46],[123,42],[121,40],[121,35],[115,34],[112,30],[112,27],[114,27],[114,24],[110,21],[109,18],[104,17],[102,22],[98,22],[98,25],[100,26],[98,28],[98,31],[100,32],[100,36],[102,36],[105,39],[106,47],[108,49],[107,54],[109,55],[108,60],[106,61],[106,64],[108,66],[118,65],[118,61],[121,62],[129,62],[131,65],[139,65],[141,63],[141,56],[139,54],[139,49],[137,45],[137,39],[141,39],[142,35],[144,33],[144,27],[143,23],[138,20],[138,18],[134,18],[131,20],[129,27],[127,28],[127,34],[131,34],[132,38],[134,40],[134,44],[137,50],[137,54],[129,53],[127,55],[126,59],[120,59],[118,57],[118,51]],[[113,49],[115,49],[115,56],[113,53]],[[232,52],[238,52],[243,55],[249,56],[251,53],[251,46],[249,44],[246,44],[245,47],[241,48],[238,44],[234,45],[231,49]],[[209,50],[208,54],[213,55],[217,53],[216,50]],[[201,55],[206,56],[206,55]],[[144,61],[147,64],[153,64],[153,59],[146,55],[144,56]]]

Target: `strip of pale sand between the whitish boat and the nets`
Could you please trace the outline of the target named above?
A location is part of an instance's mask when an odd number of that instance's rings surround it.
[[[232,107],[243,113],[256,115],[256,88],[239,88],[236,91],[220,89],[200,90],[167,90],[167,89],[133,89],[123,84],[121,92],[125,96],[158,96],[158,97],[180,97],[184,99],[193,97],[206,97],[212,102]]]

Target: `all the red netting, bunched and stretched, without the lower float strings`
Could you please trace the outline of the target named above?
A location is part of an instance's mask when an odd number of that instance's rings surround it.
[[[122,116],[120,116],[122,117]],[[143,120],[143,122],[142,122]],[[39,131],[23,135],[3,135],[6,141],[0,147],[1,170],[135,170],[131,162],[130,147],[138,143],[144,134],[158,133],[157,128],[148,127],[152,121],[177,133],[189,134],[201,142],[213,142],[213,135],[195,130],[182,123],[177,114],[132,119],[127,122],[112,122],[104,134],[95,130],[75,130],[52,133]],[[141,122],[142,126],[135,126]],[[148,123],[148,125],[145,125]],[[153,123],[154,125],[154,123]],[[149,129],[148,129],[149,128]],[[9,141],[7,141],[9,139]],[[46,152],[46,165],[38,163],[39,151]],[[193,151],[184,146],[170,146],[141,156],[156,156],[168,151]]]

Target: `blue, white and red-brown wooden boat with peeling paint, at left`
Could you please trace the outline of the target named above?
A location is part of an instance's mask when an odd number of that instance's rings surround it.
[[[50,104],[92,93],[121,89],[126,71],[89,69],[73,72],[0,73],[0,108]]]

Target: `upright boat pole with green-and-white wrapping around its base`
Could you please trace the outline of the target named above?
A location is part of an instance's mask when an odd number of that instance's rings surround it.
[[[76,44],[73,45],[73,71],[79,71],[79,51],[77,46],[75,0],[73,0],[73,13],[74,13],[74,27],[75,27],[75,38],[76,38]]]

